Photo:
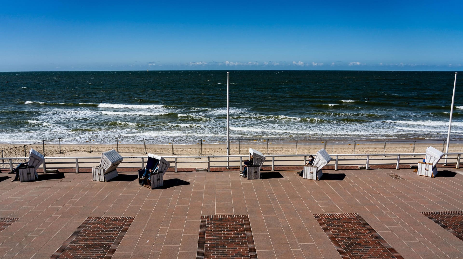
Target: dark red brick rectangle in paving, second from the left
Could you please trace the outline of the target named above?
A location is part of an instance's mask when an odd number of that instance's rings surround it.
[[[110,259],[133,219],[134,217],[88,217],[50,259]]]

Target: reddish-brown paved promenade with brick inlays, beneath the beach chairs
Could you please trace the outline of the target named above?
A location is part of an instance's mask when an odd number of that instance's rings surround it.
[[[85,171],[0,174],[0,259],[463,258],[462,169],[168,172],[154,190]]]

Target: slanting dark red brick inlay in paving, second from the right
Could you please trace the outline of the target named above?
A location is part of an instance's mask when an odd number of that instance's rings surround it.
[[[343,259],[403,259],[357,213],[313,214]]]

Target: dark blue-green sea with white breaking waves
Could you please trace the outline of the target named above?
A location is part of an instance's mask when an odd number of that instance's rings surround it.
[[[454,77],[231,71],[230,138],[446,139]],[[463,139],[462,80],[451,139]],[[0,82],[0,143],[226,139],[226,71],[0,72]]]

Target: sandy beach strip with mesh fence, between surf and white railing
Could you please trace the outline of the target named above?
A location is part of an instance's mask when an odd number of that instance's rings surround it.
[[[52,157],[57,154],[105,152],[115,149],[119,153],[162,155],[226,155],[226,139],[107,139],[58,138],[26,145],[2,145],[2,157],[28,157],[31,148]],[[325,148],[331,154],[382,154],[382,153],[425,153],[433,146],[445,152],[446,140],[315,140],[315,139],[230,139],[230,155],[246,154],[253,148],[263,154],[315,154]],[[461,152],[463,140],[450,140],[449,152]],[[24,161],[22,161],[24,162]]]

